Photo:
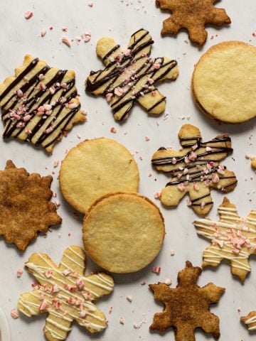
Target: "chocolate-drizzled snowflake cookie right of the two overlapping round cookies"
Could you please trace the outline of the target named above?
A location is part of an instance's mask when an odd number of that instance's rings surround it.
[[[216,136],[203,142],[196,126],[184,124],[178,133],[181,150],[159,148],[151,163],[157,171],[171,174],[171,181],[161,191],[161,202],[177,206],[188,193],[191,206],[198,215],[206,215],[213,206],[210,190],[228,193],[235,188],[235,173],[220,164],[233,151],[228,135]]]

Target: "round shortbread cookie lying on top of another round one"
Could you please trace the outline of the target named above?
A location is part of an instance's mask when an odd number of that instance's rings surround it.
[[[85,252],[108,271],[125,274],[147,266],[164,242],[164,217],[137,193],[112,193],[97,200],[83,222]]]

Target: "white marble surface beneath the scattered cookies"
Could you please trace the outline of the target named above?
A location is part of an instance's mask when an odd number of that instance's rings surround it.
[[[65,150],[75,146],[82,139],[91,139],[95,136],[106,136],[127,146],[130,151],[136,152],[135,158],[139,164],[141,182],[139,190],[144,195],[154,200],[154,193],[161,190],[167,182],[165,175],[156,173],[151,169],[151,154],[160,146],[174,146],[178,148],[177,133],[187,119],[198,126],[205,139],[210,139],[220,132],[229,132],[233,139],[233,158],[229,157],[225,165],[230,170],[235,170],[238,176],[238,186],[228,197],[238,204],[241,215],[245,216],[251,209],[256,208],[255,173],[250,168],[250,163],[245,160],[245,153],[256,154],[255,150],[255,119],[247,124],[238,126],[215,124],[198,112],[191,98],[191,73],[193,65],[203,52],[215,43],[223,40],[244,40],[256,44],[252,31],[256,29],[256,2],[254,0],[223,0],[218,6],[223,6],[232,18],[230,27],[208,27],[208,41],[203,48],[198,49],[185,43],[188,39],[185,31],[178,34],[177,38],[166,36],[161,38],[160,30],[162,21],[168,16],[156,9],[154,0],[94,0],[90,8],[87,0],[45,0],[45,1],[19,1],[1,0],[1,35],[0,35],[0,79],[13,74],[14,67],[21,65],[23,55],[31,53],[46,60],[49,65],[73,69],[77,75],[77,87],[81,94],[82,106],[88,111],[88,122],[75,127],[67,138],[55,146],[53,155],[48,156],[41,149],[36,149],[28,144],[19,144],[17,141],[4,142],[0,139],[0,168],[4,168],[6,160],[11,158],[16,166],[25,166],[29,172],[48,174],[53,171],[53,161],[63,159]],[[129,6],[127,6],[129,4]],[[33,11],[33,18],[26,21],[25,11]],[[49,27],[53,26],[50,31]],[[68,32],[63,33],[61,28],[67,27]],[[105,99],[87,96],[84,92],[84,80],[90,70],[102,67],[100,60],[95,55],[95,44],[102,36],[113,36],[118,43],[126,46],[129,36],[139,28],[146,28],[154,38],[152,56],[166,55],[178,60],[180,75],[176,82],[168,82],[159,86],[159,90],[166,94],[166,113],[158,118],[148,117],[139,106],[134,107],[128,121],[117,124],[112,118],[110,108]],[[41,38],[41,31],[46,28],[46,36]],[[81,33],[90,31],[90,43],[72,44],[71,48],[60,43],[63,35],[69,38],[80,36]],[[218,36],[215,36],[218,35]],[[210,36],[214,36],[213,40]],[[159,122],[159,126],[156,125]],[[117,129],[117,134],[110,133],[110,127]],[[3,129],[1,124],[1,130]],[[127,134],[124,134],[127,131]],[[149,136],[150,141],[144,137]],[[142,161],[139,159],[142,156]],[[46,169],[48,168],[48,169]],[[26,271],[21,278],[16,278],[16,270],[21,267],[33,252],[48,253],[54,261],[60,261],[65,247],[71,244],[82,245],[81,221],[73,216],[74,210],[65,203],[58,188],[58,169],[53,175],[53,191],[58,193],[61,206],[58,210],[63,217],[63,224],[59,228],[53,227],[53,232],[48,237],[38,237],[24,252],[19,252],[15,247],[7,245],[4,239],[0,240],[0,305],[8,316],[11,325],[13,341],[37,340],[43,341],[42,328],[46,316],[25,318],[22,315],[17,320],[10,316],[12,308],[20,293],[29,291],[33,278]],[[151,178],[148,173],[153,173]],[[247,178],[247,180],[245,180]],[[250,179],[251,178],[251,179]],[[250,193],[250,194],[248,194]],[[210,211],[210,217],[216,217],[217,207],[222,201],[220,193],[212,192],[215,205]],[[185,199],[185,198],[184,198]],[[156,200],[155,200],[156,201]],[[161,207],[159,201],[157,205]],[[200,266],[202,251],[208,246],[208,241],[197,236],[193,227],[195,215],[186,207],[186,199],[178,208],[166,210],[161,207],[166,220],[166,239],[164,247],[154,260],[153,264],[137,274],[114,275],[116,283],[114,293],[99,301],[98,306],[105,311],[109,320],[109,327],[100,335],[90,336],[86,331],[78,328],[75,323],[68,336],[69,341],[74,340],[174,340],[173,330],[168,330],[164,335],[158,332],[149,332],[149,325],[154,313],[161,311],[161,304],[154,301],[153,294],[148,286],[141,286],[142,280],[146,283],[164,281],[166,277],[172,279],[176,285],[176,274],[183,269],[186,260]],[[1,212],[0,212],[1,214]],[[68,234],[70,233],[70,237]],[[61,237],[58,237],[61,234]],[[171,249],[175,255],[171,256]],[[230,274],[228,262],[223,262],[218,269],[206,269],[199,280],[201,286],[213,281],[218,286],[226,288],[220,303],[211,308],[213,313],[220,317],[220,340],[248,341],[255,335],[250,335],[240,323],[240,315],[247,315],[250,310],[256,309],[256,262],[255,256],[250,257],[252,272],[242,285],[237,278]],[[159,276],[151,272],[152,266],[161,266]],[[88,261],[87,271],[97,269],[95,264]],[[133,297],[132,303],[126,299],[127,295]],[[113,307],[112,314],[109,308]],[[241,314],[238,313],[238,308]],[[119,324],[119,318],[124,318],[124,325]],[[142,320],[146,323],[139,330],[134,329],[134,323]],[[211,336],[196,331],[196,340],[213,340]],[[4,340],[5,341],[5,340]]]

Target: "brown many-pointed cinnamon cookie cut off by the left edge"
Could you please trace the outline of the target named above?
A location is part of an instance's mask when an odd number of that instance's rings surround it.
[[[0,235],[21,251],[38,235],[60,224],[56,205],[50,202],[53,192],[51,175],[29,174],[9,160],[0,171]]]

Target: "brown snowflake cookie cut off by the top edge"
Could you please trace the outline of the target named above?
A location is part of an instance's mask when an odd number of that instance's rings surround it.
[[[181,28],[188,30],[188,37],[199,46],[206,42],[206,24],[223,25],[231,23],[225,9],[214,6],[216,0],[156,0],[161,9],[171,11],[164,21],[161,34],[176,35]]]

